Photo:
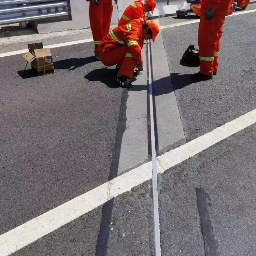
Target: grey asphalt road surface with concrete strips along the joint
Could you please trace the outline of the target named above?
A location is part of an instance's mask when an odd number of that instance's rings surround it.
[[[151,46],[158,156],[248,112],[255,118],[256,16],[236,13],[223,27],[218,73],[206,82],[190,80],[198,67],[180,64],[188,45],[198,46],[197,18],[157,20],[161,34]],[[91,38],[87,31],[38,41],[85,34]],[[1,44],[0,53],[27,43]],[[0,255],[155,255],[152,180],[139,171],[131,176],[151,163],[146,71],[127,90],[111,84],[115,67],[92,57],[93,42],[51,53],[55,73],[44,76],[30,67],[23,72],[22,54],[0,58]],[[146,66],[146,47],[143,57]],[[158,174],[162,256],[256,255],[254,123]],[[95,192],[96,206],[77,215],[75,203],[65,206],[102,184],[109,195],[112,187],[136,185],[109,201]],[[45,213],[50,219],[59,206],[59,219],[75,217],[56,227],[47,220],[40,228],[48,231],[25,242],[38,232],[29,221]]]

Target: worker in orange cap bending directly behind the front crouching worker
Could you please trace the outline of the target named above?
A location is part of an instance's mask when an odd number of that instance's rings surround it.
[[[118,27],[126,25],[133,19],[140,19],[141,24],[146,23],[145,13],[151,11],[153,14],[155,7],[156,2],[154,0],[146,0],[145,3],[141,0],[133,2],[125,9]]]

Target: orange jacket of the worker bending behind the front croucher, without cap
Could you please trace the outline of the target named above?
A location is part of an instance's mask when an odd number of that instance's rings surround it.
[[[118,27],[128,24],[133,19],[139,19],[141,24],[146,23],[144,3],[141,0],[133,2],[125,9],[119,20]]]

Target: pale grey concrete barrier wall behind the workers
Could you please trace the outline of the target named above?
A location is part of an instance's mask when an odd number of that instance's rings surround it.
[[[99,0],[100,1],[100,0]],[[118,0],[118,10],[115,2],[113,1],[113,14],[112,14],[112,24],[118,23],[118,18],[120,18],[129,4],[133,0]],[[172,0],[162,1],[156,0],[156,8],[153,16],[165,16],[168,14],[175,13],[178,9],[188,9],[189,4],[185,0]],[[52,31],[63,31],[67,29],[81,29],[90,27],[89,22],[89,2],[85,0],[70,0],[70,9],[72,20],[60,21],[60,22],[38,22],[38,32],[46,33]]]

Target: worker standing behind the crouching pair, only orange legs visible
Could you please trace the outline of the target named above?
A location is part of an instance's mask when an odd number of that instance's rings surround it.
[[[98,47],[103,37],[109,33],[113,12],[112,0],[86,1],[90,2],[89,19],[91,32],[93,33],[95,58],[100,60]],[[117,3],[117,0],[115,0],[115,3]]]

